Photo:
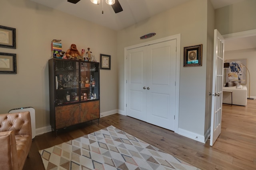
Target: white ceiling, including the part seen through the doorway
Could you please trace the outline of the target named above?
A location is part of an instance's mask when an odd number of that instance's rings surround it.
[[[123,11],[117,14],[114,13],[114,10],[110,5],[106,4],[105,0],[100,0],[99,5],[92,4],[90,0],[80,0],[77,4],[72,4],[67,2],[67,0],[31,1],[108,27],[110,29],[121,30],[189,0],[118,0],[123,8]],[[241,1],[244,0],[211,0],[214,9]],[[102,5],[104,14],[102,14]],[[256,48],[256,36],[244,37],[234,41],[231,39],[225,41],[225,51],[244,49],[248,47]]]

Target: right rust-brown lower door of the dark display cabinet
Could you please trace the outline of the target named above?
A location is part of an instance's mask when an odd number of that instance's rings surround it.
[[[81,103],[81,123],[100,118],[100,101]]]

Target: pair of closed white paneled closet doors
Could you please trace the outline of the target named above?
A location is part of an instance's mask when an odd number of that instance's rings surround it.
[[[126,114],[174,131],[176,39],[129,49],[126,57]]]

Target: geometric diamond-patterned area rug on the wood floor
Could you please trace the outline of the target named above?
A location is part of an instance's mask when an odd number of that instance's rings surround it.
[[[39,152],[46,170],[199,170],[114,126]]]

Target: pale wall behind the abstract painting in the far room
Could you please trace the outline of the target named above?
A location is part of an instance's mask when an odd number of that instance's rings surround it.
[[[234,51],[225,51],[225,60],[230,59],[247,59],[247,68],[250,71],[250,96],[256,97],[256,49],[243,49],[243,50],[234,50]],[[247,95],[249,96],[249,74],[247,72],[246,84],[247,86]],[[225,78],[225,76],[224,76]],[[225,79],[224,79],[225,80]]]

